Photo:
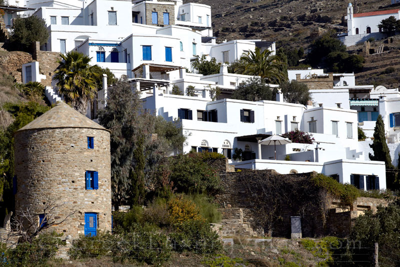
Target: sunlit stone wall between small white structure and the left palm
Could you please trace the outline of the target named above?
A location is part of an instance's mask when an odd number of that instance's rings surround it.
[[[51,79],[55,70],[59,66],[57,60],[61,59],[59,52],[40,51],[40,43],[35,42],[32,49],[32,58],[39,62],[40,74],[46,75],[45,80],[41,80],[44,86],[51,86]]]

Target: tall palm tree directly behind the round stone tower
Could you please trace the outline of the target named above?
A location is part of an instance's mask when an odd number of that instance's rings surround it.
[[[81,52],[60,54],[61,59],[53,80],[64,100],[81,114],[86,114],[87,101],[96,95],[94,73],[89,65],[91,57]]]

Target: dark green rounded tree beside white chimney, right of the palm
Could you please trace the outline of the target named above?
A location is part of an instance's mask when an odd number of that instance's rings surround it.
[[[286,102],[306,105],[311,100],[311,93],[305,83],[292,80],[279,85]]]

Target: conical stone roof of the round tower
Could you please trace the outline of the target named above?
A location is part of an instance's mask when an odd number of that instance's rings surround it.
[[[53,108],[17,130],[17,132],[41,128],[92,128],[107,130],[64,102],[58,102]]]

